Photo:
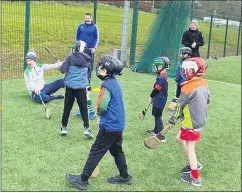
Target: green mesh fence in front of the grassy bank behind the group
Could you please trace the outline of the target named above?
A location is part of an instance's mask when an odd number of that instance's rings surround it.
[[[97,9],[100,42],[95,59],[102,54],[112,54],[113,49],[120,48],[123,1],[115,2],[120,4],[115,10],[111,10],[108,6],[99,6]],[[152,5],[150,2],[139,1],[137,21],[132,21],[134,2],[131,3],[128,49],[133,46],[131,45],[132,22],[136,22],[136,41],[132,42],[135,44],[135,61],[139,60],[149,35],[149,27],[155,19],[155,12],[159,11],[159,6],[164,5],[163,2],[159,5],[157,2]],[[104,2],[98,1],[98,3],[101,5]],[[93,7],[94,1],[31,1],[28,12],[25,1],[1,1],[1,79],[23,77],[26,49],[36,49],[37,63],[55,62],[44,50],[44,46],[47,46],[58,59],[65,59],[71,51],[78,25],[83,21],[86,12],[93,13]],[[145,13],[141,10],[154,13]],[[194,10],[193,14],[193,18],[199,21],[199,30],[204,34],[205,45],[200,49],[203,58],[241,55],[241,18],[212,16],[209,12],[199,10]],[[212,22],[211,17],[213,17]],[[227,19],[228,25],[226,25]],[[26,41],[28,30],[29,41]],[[26,42],[29,44],[26,45]],[[127,62],[129,55],[130,53],[127,54]],[[57,72],[49,72],[53,73]]]

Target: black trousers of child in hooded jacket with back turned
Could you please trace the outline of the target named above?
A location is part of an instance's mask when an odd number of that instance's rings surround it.
[[[88,110],[87,110],[87,96],[86,96],[86,88],[83,89],[72,89],[66,87],[65,93],[65,103],[64,103],[64,112],[62,115],[62,125],[67,126],[68,119],[70,116],[71,109],[73,107],[75,98],[77,100],[77,104],[79,106],[79,110],[81,112],[82,120],[84,122],[84,127],[89,127],[89,119],[88,119]]]

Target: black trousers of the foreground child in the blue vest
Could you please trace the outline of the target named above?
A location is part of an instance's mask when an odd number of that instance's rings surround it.
[[[82,181],[87,181],[89,179],[92,172],[108,150],[114,157],[120,176],[123,178],[128,177],[126,159],[122,149],[122,134],[122,131],[99,129],[97,138],[91,147],[89,157],[81,174]]]

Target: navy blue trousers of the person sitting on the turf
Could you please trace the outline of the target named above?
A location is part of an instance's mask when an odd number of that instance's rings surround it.
[[[64,79],[56,80],[52,83],[46,84],[44,88],[40,91],[40,94],[42,96],[42,99],[45,103],[50,102],[53,99],[57,99],[55,96],[51,96],[53,93],[55,93],[60,88],[64,88]],[[31,93],[31,98],[38,103],[42,103],[39,95],[35,94],[34,92]]]

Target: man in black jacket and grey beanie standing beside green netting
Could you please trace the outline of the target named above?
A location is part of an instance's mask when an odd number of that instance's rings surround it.
[[[191,57],[200,57],[199,47],[204,45],[203,34],[198,31],[198,21],[192,20],[189,30],[182,36],[182,44],[192,49]]]

